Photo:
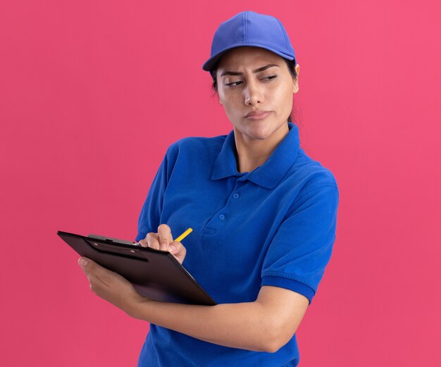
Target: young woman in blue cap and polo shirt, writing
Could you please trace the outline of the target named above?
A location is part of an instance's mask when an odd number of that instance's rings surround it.
[[[295,332],[335,241],[337,183],[299,146],[299,65],[279,20],[246,11],[222,23],[203,68],[232,131],[168,148],[136,240],[170,251],[218,304],[153,301],[80,265],[99,297],[150,323],[138,366],[297,366]],[[173,242],[189,227],[185,247]]]

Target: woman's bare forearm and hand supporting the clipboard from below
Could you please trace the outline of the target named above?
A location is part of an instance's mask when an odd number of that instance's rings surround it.
[[[216,306],[159,302],[142,297],[117,273],[86,260],[82,269],[91,290],[129,316],[225,347],[276,352],[292,338],[309,304],[302,294],[270,286],[261,287],[254,302]]]

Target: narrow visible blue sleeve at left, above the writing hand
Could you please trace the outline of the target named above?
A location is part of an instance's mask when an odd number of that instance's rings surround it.
[[[149,232],[157,232],[163,209],[163,197],[168,182],[168,154],[164,156],[161,166],[151,182],[147,199],[144,201],[138,219],[138,234],[136,241],[142,240]]]

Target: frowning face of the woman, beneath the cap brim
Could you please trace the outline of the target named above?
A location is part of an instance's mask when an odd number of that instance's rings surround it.
[[[216,77],[235,137],[278,144],[288,132],[292,94],[299,90],[283,58],[259,47],[238,47],[223,56]]]

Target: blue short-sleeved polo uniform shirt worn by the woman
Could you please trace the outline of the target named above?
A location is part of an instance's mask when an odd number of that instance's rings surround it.
[[[306,156],[290,131],[262,166],[238,173],[235,136],[186,137],[170,145],[139,216],[142,240],[158,226],[182,244],[182,265],[218,303],[255,301],[263,285],[311,300],[323,277],[337,223],[337,182]],[[138,366],[297,366],[295,335],[278,352],[204,342],[151,324]]]

